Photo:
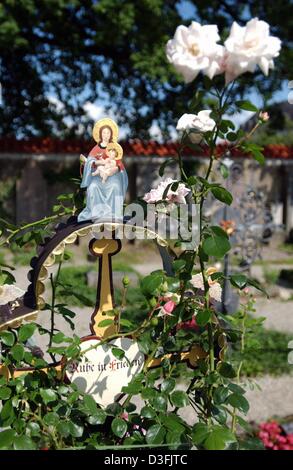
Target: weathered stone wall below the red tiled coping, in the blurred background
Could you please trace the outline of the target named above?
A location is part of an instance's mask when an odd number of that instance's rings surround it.
[[[156,186],[162,157],[125,157],[129,176],[126,202],[134,201]],[[194,174],[204,174],[206,160],[185,160],[194,165]],[[217,163],[215,163],[217,165]],[[241,178],[233,185],[237,198],[243,188],[261,190],[271,208],[274,222],[293,227],[293,165],[269,161],[260,167],[252,160],[237,160]],[[17,223],[33,221],[51,213],[60,193],[72,192],[76,186],[71,177],[79,176],[77,155],[3,155],[0,154],[0,210]],[[219,173],[212,175],[219,181]],[[178,165],[167,165],[164,178],[178,178]],[[222,184],[227,184],[224,180]],[[232,188],[231,188],[232,189]],[[5,201],[1,204],[1,200]]]

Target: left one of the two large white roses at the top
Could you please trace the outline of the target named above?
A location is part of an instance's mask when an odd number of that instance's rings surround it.
[[[202,26],[192,21],[189,27],[178,26],[174,38],[167,42],[167,59],[186,83],[192,82],[200,71],[212,79],[221,72],[224,57],[224,47],[217,44],[219,39],[216,25]]]

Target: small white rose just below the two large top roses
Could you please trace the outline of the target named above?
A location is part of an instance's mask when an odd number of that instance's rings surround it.
[[[205,109],[198,114],[183,114],[176,126],[177,131],[190,131],[189,139],[193,143],[198,143],[202,139],[202,134],[212,131],[216,122],[210,117],[211,110]]]

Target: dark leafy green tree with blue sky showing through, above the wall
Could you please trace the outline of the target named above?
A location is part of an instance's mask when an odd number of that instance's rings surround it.
[[[183,21],[178,0],[3,0],[1,134],[78,135],[89,130],[83,106],[96,99],[128,125],[129,136],[146,137],[155,121],[167,131],[188,109],[194,87],[183,87],[174,75],[165,44],[179,24],[192,19],[225,29],[232,20],[244,24],[259,16],[283,40],[278,72],[265,82],[261,73],[245,74],[235,94],[256,87],[268,99],[290,78],[290,0],[184,3],[189,7]]]

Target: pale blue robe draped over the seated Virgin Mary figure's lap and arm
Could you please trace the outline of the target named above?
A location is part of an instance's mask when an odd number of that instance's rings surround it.
[[[108,176],[105,183],[99,175],[92,176],[92,163],[96,159],[88,157],[80,187],[87,188],[86,207],[79,214],[78,222],[86,220],[123,220],[123,202],[128,186],[128,176],[124,170],[118,170]]]

